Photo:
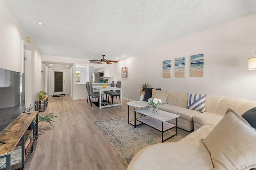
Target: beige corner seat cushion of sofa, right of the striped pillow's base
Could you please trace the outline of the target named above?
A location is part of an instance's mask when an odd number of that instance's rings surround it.
[[[216,115],[209,112],[204,112],[193,117],[193,121],[200,125],[212,125],[216,126],[223,118],[221,115]]]

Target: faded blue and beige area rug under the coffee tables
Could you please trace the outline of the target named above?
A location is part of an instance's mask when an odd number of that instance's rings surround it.
[[[133,120],[130,115],[130,120]],[[128,165],[134,155],[144,147],[162,143],[162,133],[147,125],[134,126],[128,124],[128,115],[113,117],[109,119],[94,121],[101,133],[108,139],[116,152],[122,157]],[[174,135],[167,131],[164,133],[164,139]],[[174,136],[166,142],[177,142],[182,137]]]

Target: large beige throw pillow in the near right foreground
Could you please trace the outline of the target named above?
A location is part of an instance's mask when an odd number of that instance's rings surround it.
[[[250,170],[256,168],[256,129],[236,111],[228,108],[226,115],[202,139],[217,170]]]

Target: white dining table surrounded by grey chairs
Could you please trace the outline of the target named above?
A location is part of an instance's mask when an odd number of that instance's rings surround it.
[[[97,90],[100,93],[100,101],[99,101],[100,102],[100,106],[99,106],[100,109],[104,108],[104,107],[122,106],[122,88],[111,87],[111,86],[106,86],[106,87],[103,87],[103,86],[93,86],[92,88]],[[120,103],[118,103],[118,104],[109,104],[109,105],[102,106],[102,94],[104,94],[104,91],[110,91],[110,90],[114,90],[114,91],[115,90],[120,90]]]

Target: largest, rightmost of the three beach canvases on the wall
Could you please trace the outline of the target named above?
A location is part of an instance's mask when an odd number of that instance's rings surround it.
[[[204,76],[204,54],[192,55],[190,65],[191,77]]]

